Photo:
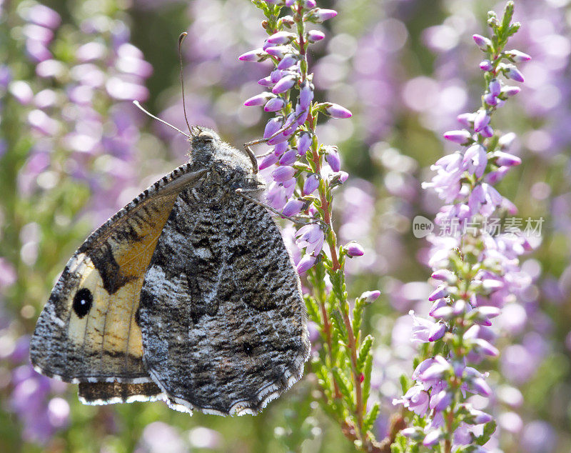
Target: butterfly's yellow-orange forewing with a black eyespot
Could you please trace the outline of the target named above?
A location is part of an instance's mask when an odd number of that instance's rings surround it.
[[[65,382],[152,382],[143,365],[136,319],[143,277],[178,191],[202,174],[192,173],[188,164],[178,167],[79,247],[31,338],[31,362],[38,372]],[[113,391],[126,398],[139,391],[157,393],[143,387],[86,384],[80,394],[89,402],[91,396],[109,399]]]

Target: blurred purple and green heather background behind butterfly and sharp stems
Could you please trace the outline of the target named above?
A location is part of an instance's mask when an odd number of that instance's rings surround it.
[[[44,5],[44,6],[42,6]],[[48,8],[46,8],[46,6]],[[480,51],[487,0],[322,0],[339,11],[313,46],[317,97],[353,111],[320,124],[350,179],[336,196],[335,225],[364,257],[350,262],[350,295],[378,288],[368,309],[375,335],[373,398],[390,402],[410,374],[410,309],[425,313],[431,287],[427,244],[411,232],[440,201],[420,189],[430,164],[454,150],[441,138],[480,104]],[[473,404],[495,414],[488,447],[571,451],[571,6],[516,0],[522,29],[508,48],[532,56],[525,84],[495,116],[522,158],[500,184],[519,216],[545,219],[522,267],[531,284],[495,320],[495,394]],[[258,417],[188,417],[161,402],[87,407],[76,386],[36,374],[29,335],[54,279],[92,229],[181,164],[183,136],[148,119],[143,102],[183,127],[176,42],[183,48],[192,124],[235,145],[261,136],[257,94],[263,64],[238,56],[261,46],[261,14],[248,0],[0,1],[0,451],[349,452],[353,447],[303,381]],[[263,151],[263,149],[261,149]],[[290,227],[285,226],[285,234]]]

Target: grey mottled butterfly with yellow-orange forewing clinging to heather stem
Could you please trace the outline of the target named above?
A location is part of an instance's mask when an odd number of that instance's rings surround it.
[[[190,141],[188,163],[77,249],[38,319],[34,368],[81,402],[256,414],[303,374],[300,280],[256,202],[256,159],[211,129]]]

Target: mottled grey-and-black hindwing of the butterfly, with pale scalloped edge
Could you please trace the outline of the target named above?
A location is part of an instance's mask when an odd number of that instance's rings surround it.
[[[143,360],[171,407],[255,414],[303,374],[298,275],[266,209],[179,194],[141,291]]]

